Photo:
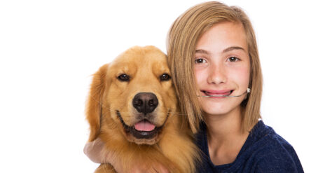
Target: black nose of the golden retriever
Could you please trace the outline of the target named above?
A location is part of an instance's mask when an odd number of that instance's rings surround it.
[[[132,99],[132,105],[140,113],[151,113],[158,106],[157,97],[151,92],[139,92]]]

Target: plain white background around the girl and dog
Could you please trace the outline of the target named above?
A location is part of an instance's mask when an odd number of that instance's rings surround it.
[[[130,46],[166,52],[172,22],[201,1],[0,1],[0,172],[93,172],[91,74]],[[254,25],[265,124],[317,172],[317,4],[224,1]]]

